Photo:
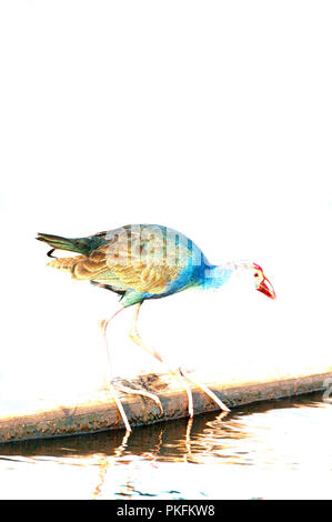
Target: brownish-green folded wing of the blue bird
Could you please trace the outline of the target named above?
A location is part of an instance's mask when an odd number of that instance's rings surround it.
[[[49,265],[71,272],[77,280],[109,284],[115,291],[163,293],[185,267],[188,250],[172,248],[160,230],[123,230],[89,257],[58,259]]]

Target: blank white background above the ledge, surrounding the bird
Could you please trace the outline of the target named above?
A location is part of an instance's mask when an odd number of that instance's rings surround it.
[[[211,262],[251,259],[275,302],[231,285],[150,301],[145,341],[218,372],[331,364],[331,49],[328,1],[1,2],[4,408],[98,385],[118,307],[46,268],[38,231],[160,223]],[[159,368],[131,313],[109,330],[115,373]]]

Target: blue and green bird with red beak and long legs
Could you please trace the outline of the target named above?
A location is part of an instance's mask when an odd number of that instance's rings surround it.
[[[53,258],[48,263],[50,267],[68,272],[74,280],[90,281],[120,295],[120,308],[109,319],[100,321],[109,365],[111,357],[107,328],[122,310],[129,307],[134,307],[129,337],[161,364],[167,365],[160,353],[154,348],[148,347],[140,337],[138,319],[144,301],[165,298],[191,288],[219,289],[234,278],[245,281],[270,299],[275,299],[271,282],[258,263],[241,260],[212,264],[191,239],[165,225],[127,224],[82,238],[38,233],[37,240],[51,247],[47,253]],[[57,258],[53,252],[58,250],[70,251],[76,255]],[[221,410],[230,411],[212,390],[193,378],[184,368],[179,367],[175,373],[187,391],[190,418],[193,416],[190,383],[199,387]],[[109,385],[125,430],[130,432],[128,416],[111,379]],[[158,395],[127,387],[120,387],[120,390],[150,398],[163,413]]]

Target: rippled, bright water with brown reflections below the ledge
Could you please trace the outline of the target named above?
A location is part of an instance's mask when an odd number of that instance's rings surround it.
[[[322,393],[123,432],[0,446],[2,499],[331,498]]]

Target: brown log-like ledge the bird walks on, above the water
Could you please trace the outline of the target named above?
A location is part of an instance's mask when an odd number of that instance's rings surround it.
[[[323,391],[332,382],[332,368],[326,372],[295,377],[269,377],[264,380],[230,379],[215,375],[204,379],[220,399],[231,409],[259,401],[271,401],[313,391]],[[188,399],[181,382],[171,374],[147,374],[131,380],[119,380],[125,387],[143,388],[159,395],[164,413],[141,395],[120,394],[131,426],[188,416]],[[201,390],[191,387],[194,414],[218,411],[217,404]],[[49,439],[103,430],[123,429],[117,404],[108,390],[90,396],[68,398],[63,404],[43,404],[29,412],[13,412],[0,418],[0,443],[30,439]]]

